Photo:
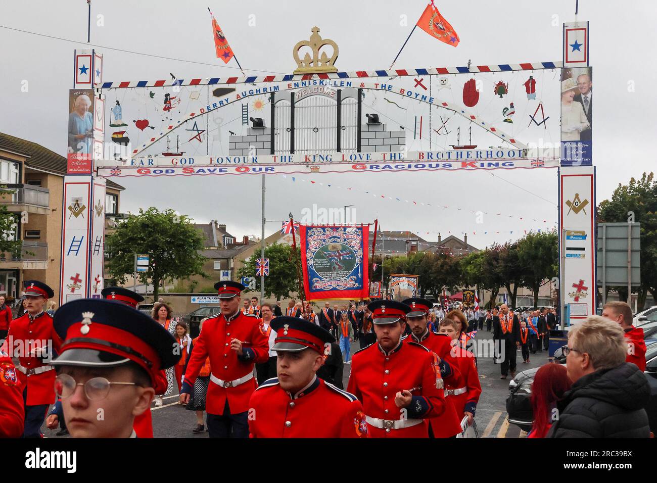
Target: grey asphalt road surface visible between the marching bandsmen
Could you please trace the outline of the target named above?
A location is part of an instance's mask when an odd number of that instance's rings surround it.
[[[487,331],[479,331],[477,340],[490,340],[492,334]],[[351,353],[359,349],[358,342],[351,344]],[[480,356],[477,358],[479,379],[482,384],[482,396],[480,397],[475,421],[482,438],[520,438],[526,436],[525,432],[518,426],[509,425],[507,421],[507,394],[509,393],[509,380],[500,379],[499,364],[493,363],[492,357]],[[532,367],[539,367],[548,362],[547,352],[531,354],[530,363],[523,363],[520,350],[516,357],[518,361],[518,372]],[[349,380],[350,365],[344,366],[344,387]],[[208,438],[208,433],[193,434],[192,429],[196,427],[196,415],[185,407],[178,405],[178,396],[172,394],[164,398],[164,405],[150,408],[152,411],[153,436],[154,438]],[[55,436],[53,430],[45,429],[47,438],[61,438],[68,436]]]

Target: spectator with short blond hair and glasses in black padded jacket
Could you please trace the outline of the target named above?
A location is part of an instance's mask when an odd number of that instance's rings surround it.
[[[566,369],[573,385],[557,403],[548,438],[648,438],[645,405],[650,386],[643,371],[625,362],[623,329],[590,315],[568,331]]]

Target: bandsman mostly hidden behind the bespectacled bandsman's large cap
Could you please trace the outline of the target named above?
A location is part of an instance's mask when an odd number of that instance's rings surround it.
[[[102,298],[105,298],[106,300],[122,302],[122,304],[132,307],[133,309],[136,309],[137,306],[144,301],[143,296],[124,287],[103,288],[101,295]],[[156,391],[155,394],[163,394],[167,388],[166,371],[160,371],[160,373],[155,374],[154,376],[156,377],[153,386]],[[161,392],[157,392],[158,390]],[[64,423],[61,400],[58,400],[57,403],[55,403],[53,406],[53,409],[50,410],[50,414],[46,419],[46,423],[49,429],[57,428],[58,425],[62,426],[62,429],[57,432],[57,436],[68,434],[68,430],[66,430],[66,423]],[[153,423],[150,409],[148,409],[148,411],[144,411],[140,415],[135,416],[135,424],[133,427],[137,433],[137,438],[153,437]]]

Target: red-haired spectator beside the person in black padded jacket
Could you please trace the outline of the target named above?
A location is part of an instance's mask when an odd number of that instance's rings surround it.
[[[532,414],[534,421],[528,438],[545,438],[558,418],[556,403],[570,389],[568,371],[562,364],[548,363],[539,368],[532,384]]]

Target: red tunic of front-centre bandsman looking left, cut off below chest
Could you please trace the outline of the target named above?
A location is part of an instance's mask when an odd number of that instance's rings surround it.
[[[361,402],[318,377],[297,394],[266,380],[249,405],[251,438],[367,438]]]

